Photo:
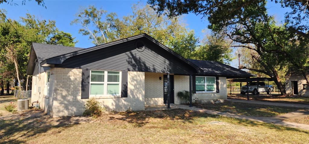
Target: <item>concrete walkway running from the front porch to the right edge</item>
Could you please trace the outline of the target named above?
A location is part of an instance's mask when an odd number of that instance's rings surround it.
[[[205,112],[205,113],[213,114],[213,115],[239,118],[239,119],[245,119],[245,120],[250,120],[250,121],[272,123],[275,125],[282,125],[282,126],[291,127],[291,128],[309,130],[309,125],[283,121],[284,119],[289,119],[289,118],[297,117],[299,115],[304,115],[303,112],[291,112],[291,113],[287,113],[281,116],[261,117],[261,116],[243,116],[243,115],[237,115],[237,114],[228,113],[228,112],[218,112],[218,111],[207,110],[203,108],[189,107],[188,105],[172,104],[171,109],[175,109],[175,108],[182,108],[182,109],[188,109],[188,110],[197,111],[197,112]],[[166,106],[154,106],[154,107],[145,107],[145,110],[152,111],[152,110],[169,110],[169,109],[167,109]]]

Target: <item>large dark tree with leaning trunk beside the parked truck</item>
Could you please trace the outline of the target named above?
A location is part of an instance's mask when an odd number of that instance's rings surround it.
[[[272,16],[267,15],[266,1],[148,1],[159,14],[165,13],[169,16],[178,16],[193,12],[197,15],[208,16],[210,28],[213,32],[226,30],[226,36],[233,40],[235,47],[254,50],[258,55],[252,55],[265,70],[259,70],[269,77],[285,94],[285,89],[278,76],[276,66],[282,61],[276,59],[273,49],[273,31],[276,30],[275,21]],[[169,13],[165,12],[165,9]],[[270,45],[270,46],[269,46]],[[281,58],[281,57],[280,57]],[[248,68],[247,68],[248,69]]]

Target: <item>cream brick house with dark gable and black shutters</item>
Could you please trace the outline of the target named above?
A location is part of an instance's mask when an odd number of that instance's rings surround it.
[[[81,115],[89,99],[109,111],[180,104],[177,92],[189,91],[190,79],[193,99],[226,100],[227,78],[255,76],[219,62],[185,59],[147,34],[87,49],[33,43],[27,74],[32,102],[54,117]]]

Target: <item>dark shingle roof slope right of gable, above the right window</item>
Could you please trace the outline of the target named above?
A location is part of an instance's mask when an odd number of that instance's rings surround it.
[[[234,68],[234,67],[222,64],[220,62],[216,62],[216,61],[203,61],[203,60],[193,60],[193,59],[188,59],[188,61],[191,61],[193,64],[195,64],[196,66],[204,70],[204,72],[200,74],[222,75],[228,78],[256,76],[254,74],[250,74],[246,71],[239,70],[237,68]]]

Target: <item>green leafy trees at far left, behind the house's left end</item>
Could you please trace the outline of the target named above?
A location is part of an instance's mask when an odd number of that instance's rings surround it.
[[[3,10],[1,10],[3,12]],[[10,75],[8,77],[15,77],[16,81],[23,82],[19,85],[26,86],[26,70],[28,66],[28,58],[32,42],[37,43],[56,43],[66,46],[74,46],[70,35],[59,31],[55,26],[55,21],[37,20],[35,16],[27,14],[26,17],[21,17],[23,24],[18,21],[6,19],[3,15],[0,19],[0,71]],[[65,36],[61,36],[65,35]],[[11,48],[13,47],[13,48]],[[18,66],[19,75],[16,75],[14,61],[6,57],[10,53],[8,49],[12,50]],[[2,74],[0,74],[2,75]],[[2,77],[9,79],[8,77]],[[17,78],[19,77],[19,78]],[[19,80],[18,80],[19,79]],[[4,80],[4,79],[3,79]]]

